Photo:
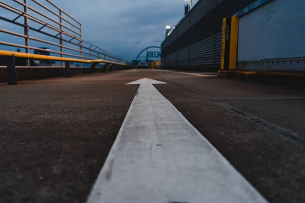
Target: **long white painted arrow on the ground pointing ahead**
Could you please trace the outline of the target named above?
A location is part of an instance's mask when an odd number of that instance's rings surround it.
[[[88,203],[266,200],[152,84],[141,79]]]

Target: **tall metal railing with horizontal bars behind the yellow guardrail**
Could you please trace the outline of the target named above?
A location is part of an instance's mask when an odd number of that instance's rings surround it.
[[[83,40],[81,23],[50,0],[0,1],[0,8],[2,8],[0,23],[2,21],[2,24],[6,24],[0,26],[0,32],[2,35],[6,35],[6,37],[2,37],[6,41],[0,40],[0,45],[22,48],[25,53],[30,53],[32,50],[47,51],[51,55],[60,57],[104,59],[129,63],[127,60]],[[15,31],[20,30],[20,27],[23,29],[22,31]],[[19,38],[16,40],[18,43],[13,43],[12,39],[16,37]],[[24,44],[21,43],[20,38],[24,39]],[[46,46],[52,47],[52,49],[46,49]],[[29,64],[29,60],[27,60],[25,66],[29,67]],[[63,66],[63,62],[58,65]]]

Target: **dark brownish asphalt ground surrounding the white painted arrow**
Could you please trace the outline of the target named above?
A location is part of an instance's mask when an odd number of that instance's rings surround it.
[[[1,83],[0,202],[85,202],[141,78],[267,200],[305,202],[304,89],[158,70]]]

